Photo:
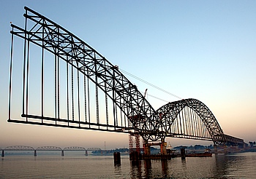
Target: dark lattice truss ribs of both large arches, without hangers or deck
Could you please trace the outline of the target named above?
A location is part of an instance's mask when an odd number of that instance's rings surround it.
[[[128,117],[132,125],[127,129],[133,129],[133,132],[139,133],[144,140],[156,141],[172,135],[170,127],[178,114],[184,108],[191,108],[200,116],[211,135],[211,139],[217,143],[225,143],[227,137],[223,135],[217,119],[199,100],[179,100],[168,103],[155,111],[137,87],[118,71],[118,67],[112,65],[99,52],[47,17],[28,7],[25,9],[25,29],[12,24],[11,33],[48,50],[87,76]],[[27,25],[28,20],[33,25]],[[38,118],[39,116],[31,117]],[[51,118],[48,119],[51,120]],[[76,123],[82,124],[80,121]],[[200,139],[208,140],[208,138]]]

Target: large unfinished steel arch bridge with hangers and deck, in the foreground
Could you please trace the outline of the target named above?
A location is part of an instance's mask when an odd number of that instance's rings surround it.
[[[11,24],[8,122],[125,132],[130,148],[136,143],[137,149],[140,137],[145,143],[171,137],[244,144],[225,135],[199,100],[178,100],[155,110],[118,66],[47,17],[28,7],[25,11],[24,28]],[[12,113],[17,108],[21,117]]]

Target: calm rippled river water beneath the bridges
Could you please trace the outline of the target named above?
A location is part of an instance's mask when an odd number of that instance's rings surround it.
[[[121,156],[4,156],[0,178],[256,178],[256,153],[140,161]]]

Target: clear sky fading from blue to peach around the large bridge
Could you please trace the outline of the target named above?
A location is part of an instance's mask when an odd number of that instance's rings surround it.
[[[129,147],[127,134],[7,122],[10,22],[23,27],[24,6],[74,33],[122,70],[183,99],[202,101],[225,134],[246,143],[256,140],[256,1],[2,0],[0,148]],[[127,78],[148,95],[179,100]],[[157,109],[165,103],[151,104]],[[172,146],[211,144],[166,140]]]

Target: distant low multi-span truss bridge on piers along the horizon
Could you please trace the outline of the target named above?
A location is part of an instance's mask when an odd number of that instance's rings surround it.
[[[1,156],[4,157],[4,151],[34,151],[34,156],[37,156],[37,151],[61,151],[61,156],[64,156],[64,151],[85,151],[86,156],[88,156],[88,151],[104,151],[101,148],[84,148],[78,146],[71,146],[60,148],[56,146],[41,146],[33,148],[31,146],[8,146],[6,148],[0,148]]]

